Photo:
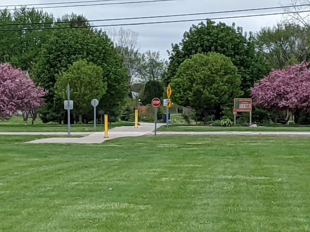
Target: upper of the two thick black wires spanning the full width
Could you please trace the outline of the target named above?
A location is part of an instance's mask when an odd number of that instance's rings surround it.
[[[81,21],[59,21],[59,22],[43,22],[43,23],[13,23],[13,24],[0,24],[0,26],[19,26],[19,25],[22,26],[22,25],[61,24],[61,23],[86,23],[86,22],[136,20],[136,19],[155,19],[155,18],[168,18],[168,17],[178,17],[178,16],[208,15],[208,14],[235,13],[235,12],[245,12],[245,11],[272,10],[272,9],[281,9],[281,8],[289,8],[289,7],[304,7],[304,6],[310,6],[310,4],[294,5],[294,6],[283,6],[283,7],[263,7],[263,8],[253,8],[253,9],[244,9],[244,10],[232,10],[232,11],[212,11],[212,12],[204,12],[204,13],[179,14],[179,15],[145,16],[145,17],[133,17],[133,18],[98,19],[98,20],[81,20]]]

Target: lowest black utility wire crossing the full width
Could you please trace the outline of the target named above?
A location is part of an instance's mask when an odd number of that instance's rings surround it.
[[[71,29],[71,28],[94,28],[94,27],[115,27],[115,26],[132,26],[132,25],[146,25],[146,24],[164,24],[164,23],[192,22],[192,21],[202,21],[202,20],[220,20],[220,19],[249,18],[249,17],[257,17],[257,16],[284,15],[284,14],[305,13],[305,12],[310,12],[310,10],[308,10],[308,11],[292,11],[292,12],[271,13],[271,14],[259,14],[259,15],[240,15],[240,16],[229,16],[229,17],[219,17],[219,18],[145,22],[145,23],[105,24],[105,25],[73,26],[73,27],[52,27],[52,28],[0,29],[0,32],[1,31],[33,31],[33,30],[55,30],[55,29]],[[68,23],[70,23],[70,22],[68,22]]]

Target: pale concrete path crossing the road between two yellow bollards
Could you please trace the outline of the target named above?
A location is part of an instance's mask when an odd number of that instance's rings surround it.
[[[154,123],[139,123],[139,128],[133,126],[114,127],[108,131],[108,137],[104,138],[104,132],[96,132],[89,134],[83,138],[43,138],[26,143],[81,143],[92,144],[102,143],[106,140],[120,137],[137,137],[142,135],[152,135],[155,130]],[[164,124],[158,123],[157,128]]]

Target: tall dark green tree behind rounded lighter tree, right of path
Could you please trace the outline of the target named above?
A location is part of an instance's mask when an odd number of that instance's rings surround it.
[[[179,44],[172,44],[169,53],[169,66],[164,80],[168,83],[175,76],[184,60],[198,53],[218,52],[231,58],[232,63],[238,68],[241,75],[241,89],[246,95],[250,94],[250,87],[259,78],[268,72],[260,62],[264,60],[256,57],[255,47],[250,33],[249,39],[243,35],[242,28],[227,26],[224,23],[215,24],[207,20],[193,25]]]

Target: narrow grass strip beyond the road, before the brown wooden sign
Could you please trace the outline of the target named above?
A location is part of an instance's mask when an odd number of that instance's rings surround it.
[[[170,131],[197,131],[197,132],[205,132],[205,131],[310,131],[310,127],[303,126],[275,126],[275,127],[215,127],[215,126],[169,126]],[[158,131],[167,131],[166,126],[162,126],[158,128]]]

